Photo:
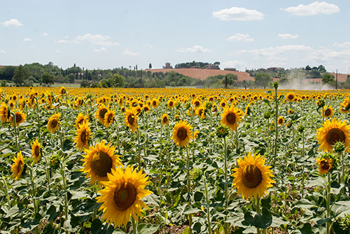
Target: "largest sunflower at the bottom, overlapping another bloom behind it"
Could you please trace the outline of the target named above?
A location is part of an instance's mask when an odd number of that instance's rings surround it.
[[[142,208],[148,209],[141,198],[152,193],[144,189],[150,183],[146,174],[142,169],[137,172],[127,166],[124,171],[123,167],[118,167],[112,169],[108,179],[108,182],[102,182],[105,188],[99,191],[101,196],[96,198],[98,203],[102,203],[99,210],[104,212],[104,219],[115,227],[127,226],[130,217],[138,221]]]

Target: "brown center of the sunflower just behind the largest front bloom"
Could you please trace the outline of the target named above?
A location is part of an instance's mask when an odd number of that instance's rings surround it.
[[[97,152],[91,160],[91,168],[99,177],[106,177],[107,173],[111,173],[112,158],[105,152]]]

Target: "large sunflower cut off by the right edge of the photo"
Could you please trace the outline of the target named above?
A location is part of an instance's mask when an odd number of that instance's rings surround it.
[[[316,138],[323,151],[331,152],[333,145],[338,141],[343,142],[347,148],[350,145],[350,126],[346,124],[346,120],[343,122],[337,119],[326,120],[323,127],[317,129]]]

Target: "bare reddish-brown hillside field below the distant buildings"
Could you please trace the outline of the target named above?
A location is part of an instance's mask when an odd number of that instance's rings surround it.
[[[205,80],[205,78],[211,75],[237,75],[238,81],[242,80],[254,80],[249,73],[243,71],[224,71],[218,69],[201,69],[201,68],[165,68],[165,69],[146,69],[145,71],[151,71],[151,73],[167,73],[168,71],[175,71],[176,73],[189,76],[191,78],[197,78]]]

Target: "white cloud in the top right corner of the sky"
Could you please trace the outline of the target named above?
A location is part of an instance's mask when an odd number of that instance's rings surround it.
[[[299,6],[290,6],[288,8],[281,8],[281,10],[286,10],[286,12],[292,15],[298,15],[298,16],[318,15],[318,14],[330,15],[332,13],[339,12],[339,7],[331,3],[326,3],[325,1],[322,1],[322,2],[314,1],[309,5],[300,4]]]

